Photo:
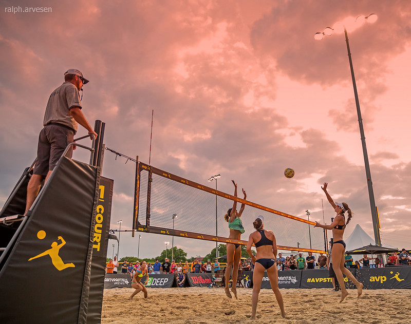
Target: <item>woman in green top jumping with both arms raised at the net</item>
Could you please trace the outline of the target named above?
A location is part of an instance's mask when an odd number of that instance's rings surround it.
[[[231,180],[234,184],[234,196],[237,197],[237,184],[234,180]],[[247,198],[247,194],[244,189],[242,189],[242,193],[244,194],[244,199]],[[237,213],[237,202],[234,201],[233,207],[227,211],[227,214],[224,216],[226,221],[228,222],[228,227],[230,229],[230,236],[229,238],[240,240],[241,234],[245,232],[244,227],[242,227],[242,223],[240,220],[242,211],[244,211],[245,204],[241,204],[240,211]],[[230,272],[233,271],[232,279],[233,284],[231,287],[231,291],[233,292],[236,299],[237,298],[237,276],[238,276],[238,267],[240,264],[241,259],[241,247],[240,244],[233,244],[227,243],[227,268],[226,268],[226,295],[227,297],[231,298],[229,282],[230,282]]]

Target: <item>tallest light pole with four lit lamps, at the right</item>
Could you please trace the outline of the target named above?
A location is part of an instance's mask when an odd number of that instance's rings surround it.
[[[364,22],[368,23],[374,23],[378,19],[377,15],[375,13],[371,13],[368,16],[358,16],[355,20],[356,23],[363,24]],[[351,52],[350,52],[350,45],[348,43],[348,34],[347,34],[347,29],[345,28],[344,24],[340,24],[344,28],[344,34],[345,34],[345,42],[347,43],[347,52],[348,52],[348,60],[350,63],[350,69],[351,69],[351,79],[352,79],[352,86],[354,88],[354,97],[356,99],[356,106],[357,106],[357,115],[358,115],[358,124],[360,126],[360,134],[361,134],[361,143],[363,146],[363,155],[364,155],[364,164],[365,164],[365,174],[367,177],[367,185],[368,185],[368,196],[369,196],[369,204],[371,207],[371,217],[372,217],[372,226],[374,229],[374,238],[376,241],[377,245],[381,246],[381,237],[380,237],[380,222],[378,219],[377,215],[377,208],[376,208],[376,202],[374,198],[374,190],[372,189],[372,180],[371,180],[371,170],[369,167],[369,162],[368,162],[368,154],[367,154],[367,146],[365,144],[365,134],[364,134],[364,127],[363,127],[363,119],[361,117],[361,110],[360,110],[360,101],[358,99],[358,91],[357,91],[357,85],[356,85],[356,79],[354,77],[354,68],[352,67],[352,59],[351,59]],[[327,27],[324,29],[323,32],[317,32],[314,35],[315,40],[322,40],[324,35],[331,36],[334,30],[337,28],[337,24],[335,24],[333,27]]]

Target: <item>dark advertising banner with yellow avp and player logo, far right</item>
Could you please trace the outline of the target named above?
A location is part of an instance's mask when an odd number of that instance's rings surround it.
[[[356,278],[365,289],[411,289],[411,266],[356,269]]]

